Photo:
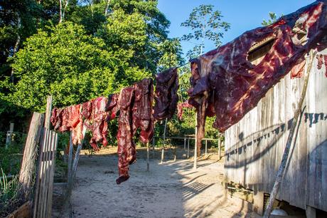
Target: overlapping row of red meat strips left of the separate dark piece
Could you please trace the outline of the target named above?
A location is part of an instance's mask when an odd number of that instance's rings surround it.
[[[97,143],[107,145],[107,122],[120,111],[117,133],[119,178],[116,181],[120,184],[128,180],[129,165],[136,160],[133,139],[136,131],[140,129],[139,139],[143,143],[149,142],[154,135],[153,93],[152,79],[144,79],[122,89],[119,94],[109,95],[109,98],[99,97],[68,108],[54,108],[50,120],[55,130],[72,132],[74,145],[82,142],[83,128],[90,130],[90,145],[99,150]]]

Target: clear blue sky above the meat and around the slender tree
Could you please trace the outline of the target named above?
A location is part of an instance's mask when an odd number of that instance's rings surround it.
[[[261,26],[263,19],[268,19],[269,11],[277,16],[290,14],[314,2],[313,0],[159,0],[159,9],[171,21],[169,37],[181,37],[191,29],[181,27],[181,23],[188,19],[192,9],[200,4],[212,4],[216,10],[222,12],[224,21],[230,23],[230,30],[225,33],[223,44],[232,41],[240,34],[252,28]],[[193,43],[182,42],[183,52],[193,48]],[[215,46],[205,43],[205,51],[210,51]]]

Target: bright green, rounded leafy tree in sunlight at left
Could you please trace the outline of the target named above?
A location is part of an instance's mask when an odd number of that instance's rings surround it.
[[[20,80],[11,85],[9,99],[37,111],[44,110],[49,94],[55,96],[54,105],[72,105],[118,91],[115,81],[122,71],[131,82],[138,74],[145,76],[137,68],[124,68],[127,63],[107,51],[101,38],[87,36],[82,26],[70,22],[28,38],[14,61]]]

